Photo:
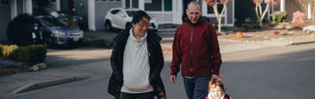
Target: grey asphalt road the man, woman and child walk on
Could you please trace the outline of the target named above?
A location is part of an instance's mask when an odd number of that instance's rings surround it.
[[[313,99],[315,44],[224,54],[221,75],[234,99]],[[183,80],[169,82],[169,63],[161,72],[169,99],[186,99]],[[106,92],[108,76],[43,88],[9,99],[114,99]]]

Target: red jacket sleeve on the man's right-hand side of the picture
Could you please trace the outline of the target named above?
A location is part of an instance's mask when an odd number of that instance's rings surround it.
[[[222,60],[221,60],[219,44],[217,42],[217,32],[216,32],[215,27],[213,27],[212,24],[209,25],[209,30],[210,30],[209,32],[210,39],[208,39],[208,42],[210,43],[212,57],[213,57],[212,73],[219,75],[220,67],[222,65]]]

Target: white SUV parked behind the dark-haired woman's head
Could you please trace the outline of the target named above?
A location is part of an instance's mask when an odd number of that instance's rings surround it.
[[[131,20],[133,14],[139,11],[138,9],[123,9],[123,8],[112,8],[106,12],[104,17],[104,25],[106,31],[111,31],[113,28],[125,29],[131,26]],[[149,28],[157,31],[158,24],[156,19],[151,18]]]

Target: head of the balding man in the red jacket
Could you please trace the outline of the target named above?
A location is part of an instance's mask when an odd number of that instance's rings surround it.
[[[192,23],[197,23],[198,19],[201,17],[201,5],[196,1],[189,2],[187,4],[186,14]]]

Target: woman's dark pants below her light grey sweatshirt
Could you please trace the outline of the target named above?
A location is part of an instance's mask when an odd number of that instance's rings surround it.
[[[120,99],[154,99],[154,91],[141,94],[129,94],[121,92]]]

